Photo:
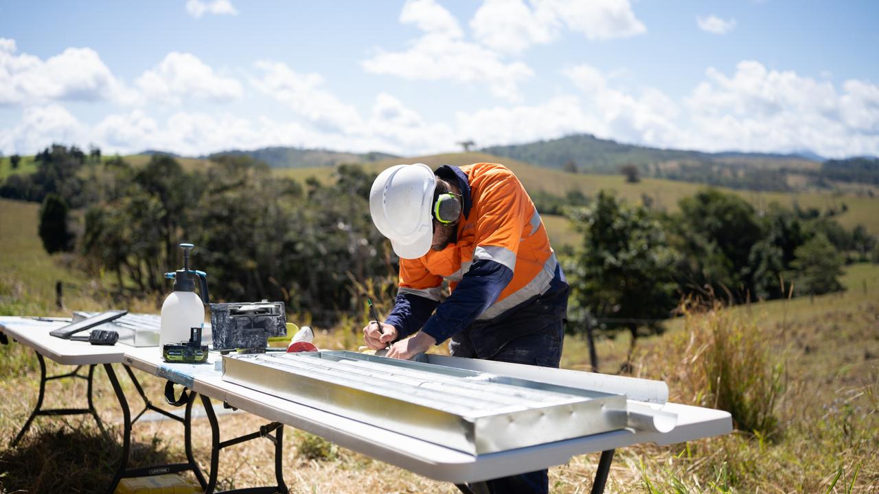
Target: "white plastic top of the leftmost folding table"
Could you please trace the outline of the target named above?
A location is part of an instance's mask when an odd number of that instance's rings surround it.
[[[55,338],[49,331],[68,323],[38,321],[31,317],[0,316],[0,331],[18,343],[29,346],[59,364],[80,366],[90,364],[115,364],[132,346],[117,342],[116,345],[91,345],[87,341]]]

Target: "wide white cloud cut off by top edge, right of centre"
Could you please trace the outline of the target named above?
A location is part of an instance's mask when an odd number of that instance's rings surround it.
[[[627,38],[646,32],[628,0],[485,0],[470,20],[483,45],[519,53],[558,39],[562,28],[589,40]]]

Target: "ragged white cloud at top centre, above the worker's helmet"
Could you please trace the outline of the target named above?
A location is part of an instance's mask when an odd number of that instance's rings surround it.
[[[498,53],[461,40],[457,22],[433,0],[408,2],[403,14],[402,22],[417,24],[425,34],[405,51],[379,51],[363,62],[368,72],[413,80],[485,83],[492,94],[510,100],[519,98],[519,82],[534,75],[523,62],[502,62]],[[428,14],[438,20],[428,21]]]

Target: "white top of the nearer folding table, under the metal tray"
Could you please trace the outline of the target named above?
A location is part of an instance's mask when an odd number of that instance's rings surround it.
[[[678,415],[678,425],[671,432],[623,429],[475,456],[223,381],[222,372],[214,365],[219,359],[220,356],[212,352],[207,364],[169,364],[162,360],[155,347],[127,347],[124,363],[185,384],[197,393],[259,417],[317,434],[339,446],[418,475],[452,483],[479,482],[545,469],[561,465],[576,454],[643,442],[672,444],[732,431],[730,414],[725,411],[665,403],[661,410]]]

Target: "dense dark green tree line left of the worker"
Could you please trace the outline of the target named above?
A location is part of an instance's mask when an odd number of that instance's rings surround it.
[[[301,184],[249,156],[216,156],[205,170],[185,170],[167,155],[134,167],[76,151],[41,152],[37,171],[11,176],[0,195],[43,201],[47,250],[76,252],[87,270],[111,273],[129,295],[170,290],[163,273],[181,267],[181,242],[196,244],[193,266],[207,272],[214,301],[285,301],[324,323],[358,308],[352,280],[396,276],[369,217],[374,175],[359,166],[338,166],[331,185]],[[82,211],[80,219],[59,222],[69,207]]]

